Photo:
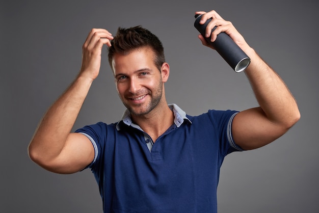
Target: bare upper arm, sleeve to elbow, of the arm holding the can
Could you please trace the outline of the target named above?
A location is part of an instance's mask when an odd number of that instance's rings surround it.
[[[287,130],[285,126],[270,121],[260,107],[236,114],[231,126],[234,142],[245,150],[267,145]]]

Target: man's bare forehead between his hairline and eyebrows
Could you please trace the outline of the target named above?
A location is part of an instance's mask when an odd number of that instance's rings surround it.
[[[155,66],[154,51],[150,47],[142,47],[125,52],[125,54],[116,53],[112,59],[114,74],[123,71],[135,71],[141,67]]]

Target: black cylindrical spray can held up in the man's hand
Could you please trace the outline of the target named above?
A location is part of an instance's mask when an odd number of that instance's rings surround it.
[[[245,52],[224,32],[221,32],[217,35],[217,38],[214,42],[210,41],[210,37],[205,37],[205,30],[207,24],[211,21],[211,18],[208,19],[204,24],[200,24],[200,18],[202,15],[195,15],[195,28],[202,34],[205,40],[211,44],[216,51],[223,57],[223,59],[231,66],[235,72],[241,72],[245,70],[249,63],[250,58],[245,54]],[[214,31],[216,26],[211,30]]]

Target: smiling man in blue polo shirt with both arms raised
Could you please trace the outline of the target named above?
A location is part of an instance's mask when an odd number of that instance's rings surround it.
[[[83,45],[81,71],[35,132],[29,146],[32,160],[56,173],[91,168],[105,212],[217,212],[224,157],[271,143],[300,114],[283,81],[231,22],[215,11],[196,14],[203,14],[201,24],[212,18],[206,28],[211,41],[225,32],[250,57],[245,72],[260,107],[188,116],[166,102],[170,67],[156,36],[139,26],[119,29],[115,37],[93,29]],[[201,35],[199,39],[209,46]],[[109,46],[116,88],[127,110],[117,123],[99,122],[70,133],[98,76],[104,44]]]

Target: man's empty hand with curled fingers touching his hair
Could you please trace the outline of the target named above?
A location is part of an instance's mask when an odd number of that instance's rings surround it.
[[[94,80],[101,66],[103,44],[111,46],[112,34],[104,29],[92,29],[82,47],[82,67],[79,75]]]

